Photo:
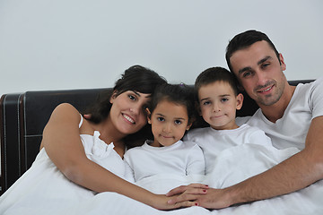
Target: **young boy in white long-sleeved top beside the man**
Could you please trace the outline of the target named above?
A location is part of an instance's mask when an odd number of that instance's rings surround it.
[[[249,125],[238,126],[236,110],[242,107],[243,95],[238,92],[233,75],[222,67],[200,73],[195,82],[198,111],[210,125],[188,132],[185,141],[196,142],[205,155],[205,174],[214,169],[216,157],[223,151],[244,143],[272,146],[266,134]]]

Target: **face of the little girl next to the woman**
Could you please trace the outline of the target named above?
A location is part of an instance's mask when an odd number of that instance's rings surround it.
[[[170,146],[178,142],[191,126],[188,124],[187,107],[168,100],[158,103],[148,117],[148,123],[152,125],[154,147]]]

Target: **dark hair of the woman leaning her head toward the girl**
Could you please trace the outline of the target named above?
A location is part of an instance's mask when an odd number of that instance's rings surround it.
[[[110,99],[113,93],[118,96],[127,90],[133,90],[153,95],[155,88],[164,83],[166,83],[166,80],[153,70],[141,65],[133,65],[122,74],[113,89],[100,93],[97,101],[85,113],[91,115],[89,121],[99,124],[109,116],[109,111],[112,107]],[[127,135],[124,141],[127,147],[131,148],[138,144],[143,144],[144,140],[151,138],[152,135],[151,127],[147,124],[137,133]]]

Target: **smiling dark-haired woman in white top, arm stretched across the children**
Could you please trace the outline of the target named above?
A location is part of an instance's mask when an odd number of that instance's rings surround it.
[[[144,109],[155,87],[165,82],[157,73],[135,65],[90,109],[91,119],[83,119],[70,104],[57,106],[31,168],[1,196],[0,214],[61,214],[75,202],[101,192],[124,194],[162,210],[193,205],[170,205],[165,195],[122,179],[128,137],[147,124]]]

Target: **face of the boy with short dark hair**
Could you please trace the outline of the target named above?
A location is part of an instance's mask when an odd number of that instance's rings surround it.
[[[242,107],[243,96],[234,95],[227,82],[213,82],[198,90],[200,114],[216,130],[234,129],[236,110]]]

